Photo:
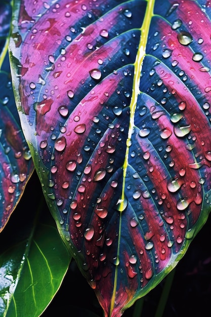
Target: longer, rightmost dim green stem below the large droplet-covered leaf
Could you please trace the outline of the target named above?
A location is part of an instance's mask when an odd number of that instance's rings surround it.
[[[166,280],[165,280],[165,284],[162,290],[162,294],[160,296],[160,300],[157,306],[157,310],[155,313],[155,317],[162,317],[163,312],[165,310],[165,305],[172,287],[172,283],[174,280],[174,276],[175,276],[175,271],[176,269],[173,269],[167,276],[166,276]]]

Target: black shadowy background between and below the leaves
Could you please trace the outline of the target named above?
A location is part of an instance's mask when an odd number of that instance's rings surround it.
[[[21,225],[33,219],[43,196],[37,175],[30,178],[23,197],[14,211],[2,239],[14,242],[11,228],[16,228],[21,234]],[[44,203],[43,214],[49,216],[49,210]],[[163,317],[201,317],[209,316],[211,301],[211,215],[196,235],[185,256],[176,267],[174,280]],[[1,241],[3,241],[1,240]],[[6,245],[5,245],[6,247]],[[2,246],[0,246],[0,250]],[[160,295],[165,285],[165,279],[144,298],[144,305],[140,317],[154,317]],[[132,317],[134,306],[126,310],[123,317]],[[208,314],[207,314],[208,311]],[[71,262],[62,286],[53,301],[41,317],[103,317],[103,311],[97,301],[94,291],[88,285],[78,270],[74,261]],[[21,317],[21,316],[18,316]],[[30,315],[29,315],[30,317]],[[161,315],[156,316],[161,317]]]

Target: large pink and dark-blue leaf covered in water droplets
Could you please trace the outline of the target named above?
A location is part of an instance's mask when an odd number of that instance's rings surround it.
[[[15,1],[23,131],[57,226],[105,316],[185,254],[210,210],[205,1]]]

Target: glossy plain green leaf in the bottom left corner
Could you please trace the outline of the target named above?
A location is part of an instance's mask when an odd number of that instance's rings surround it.
[[[45,210],[39,213],[45,214]],[[54,298],[69,267],[71,258],[51,215],[37,221],[34,217],[37,218],[37,211],[28,217],[28,223],[22,221],[22,226],[18,226],[20,233],[16,232],[13,219],[8,224],[17,243],[0,256],[1,317],[39,316]],[[14,242],[7,230],[0,236],[1,244],[5,239],[9,240],[8,246]]]

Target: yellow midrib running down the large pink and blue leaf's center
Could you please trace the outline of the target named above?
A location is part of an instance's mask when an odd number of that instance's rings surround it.
[[[147,45],[147,39],[149,34],[149,27],[150,27],[151,19],[153,16],[153,9],[154,9],[154,3],[155,3],[155,0],[146,0],[146,1],[147,1],[147,8],[145,12],[144,21],[141,27],[141,39],[140,39],[140,44],[139,44],[139,48],[138,48],[138,52],[136,56],[136,61],[134,64],[135,69],[134,69],[133,94],[132,94],[132,99],[130,104],[131,116],[130,116],[128,140],[126,143],[125,160],[123,164],[122,194],[121,194],[120,206],[119,206],[120,214],[121,214],[121,210],[123,210],[123,204],[124,204],[126,169],[128,167],[129,148],[131,143],[132,132],[134,129],[134,114],[136,110],[138,95],[140,94],[139,86],[140,86],[142,64],[146,54],[146,45]],[[121,230],[121,215],[119,220],[119,235],[118,235],[119,239],[120,239],[120,230]],[[117,256],[118,255],[119,255],[119,243],[118,243],[118,249],[117,249]],[[116,265],[116,269],[115,269],[114,287],[113,287],[113,294],[111,298],[111,308],[110,308],[109,316],[111,316],[114,305],[115,305],[115,294],[116,294],[116,287],[117,287],[117,272],[118,272],[117,269],[118,269],[118,265]]]

